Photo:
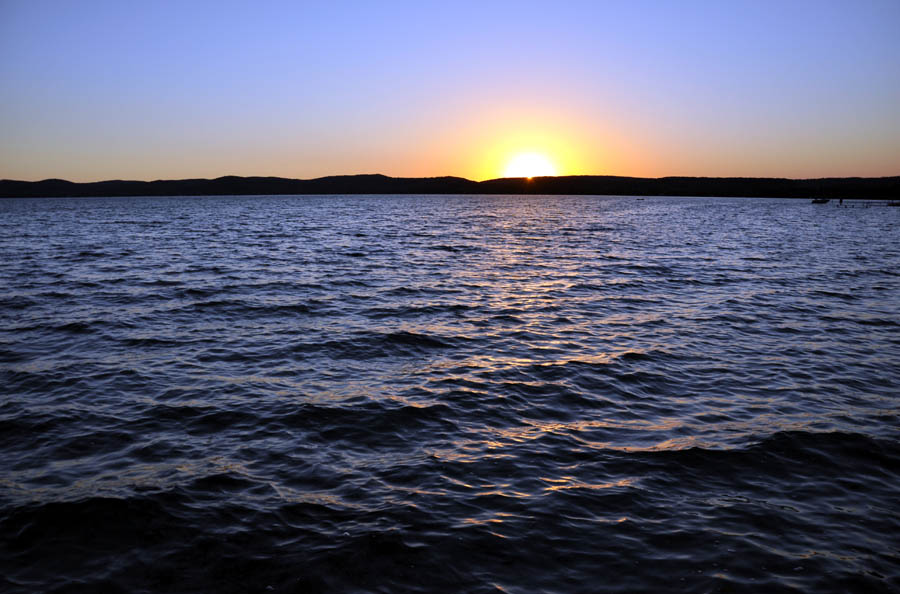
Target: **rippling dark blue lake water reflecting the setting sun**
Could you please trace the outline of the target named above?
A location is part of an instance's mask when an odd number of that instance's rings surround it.
[[[900,209],[0,201],[0,590],[900,589]]]

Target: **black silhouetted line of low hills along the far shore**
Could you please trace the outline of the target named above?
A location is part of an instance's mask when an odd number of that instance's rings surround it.
[[[236,177],[74,183],[0,180],[0,197],[219,196],[269,194],[589,194],[619,196],[767,196],[773,198],[900,198],[900,176],[780,179],[762,177],[563,177],[502,178],[338,175],[317,179]]]

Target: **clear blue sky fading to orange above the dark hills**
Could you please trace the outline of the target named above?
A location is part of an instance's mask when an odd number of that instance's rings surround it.
[[[898,31],[898,0],[0,0],[0,178],[900,175]]]

